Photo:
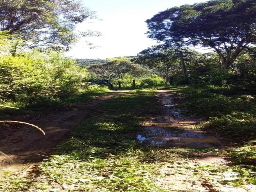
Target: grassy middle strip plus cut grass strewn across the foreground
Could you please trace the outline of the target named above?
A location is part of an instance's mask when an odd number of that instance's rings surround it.
[[[183,88],[172,91],[179,96],[187,96],[182,93]],[[0,186],[0,190],[167,192],[170,190],[156,185],[156,181],[165,176],[160,173],[164,164],[170,165],[168,174],[192,173],[190,177],[197,181],[227,182],[238,187],[246,182],[255,182],[255,167],[251,165],[188,166],[198,156],[218,154],[214,148],[167,149],[143,146],[135,141],[140,124],[158,114],[159,110],[152,90],[121,93],[103,101],[100,109],[76,128],[71,138],[61,144],[51,158],[39,165],[39,174],[19,178],[12,172],[5,172],[5,176],[0,178],[5,185]],[[230,153],[236,149],[230,149]],[[232,158],[241,160],[244,156],[233,155]],[[250,158],[254,158],[254,154],[250,153]],[[237,178],[227,181],[223,173],[230,172],[230,169],[238,174]]]

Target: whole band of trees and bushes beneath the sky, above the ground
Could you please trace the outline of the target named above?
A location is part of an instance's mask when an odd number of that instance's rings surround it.
[[[0,2],[0,99],[62,98],[93,80],[131,86],[247,82],[256,74],[255,0],[210,0],[168,8],[148,19],[148,37],[159,44],[137,56],[72,60],[62,53],[96,13],[76,0]],[[193,47],[210,48],[201,53]],[[182,52],[182,54],[181,54]],[[183,61],[183,62],[182,62]]]

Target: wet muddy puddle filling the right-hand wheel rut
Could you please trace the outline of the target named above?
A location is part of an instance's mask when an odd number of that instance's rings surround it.
[[[170,92],[159,90],[157,96],[163,114],[143,125],[143,130],[136,136],[138,141],[152,146],[207,148],[220,145],[217,138],[191,128],[199,119],[181,115]]]

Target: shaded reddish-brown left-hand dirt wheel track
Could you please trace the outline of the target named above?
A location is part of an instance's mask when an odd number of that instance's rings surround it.
[[[46,136],[23,124],[0,124],[0,151],[9,157],[0,154],[0,170],[26,174],[37,162],[49,156],[74,126],[89,117],[98,108],[100,101],[119,93],[112,92],[86,103],[68,105],[60,111],[51,110],[11,119],[35,124],[44,130]]]

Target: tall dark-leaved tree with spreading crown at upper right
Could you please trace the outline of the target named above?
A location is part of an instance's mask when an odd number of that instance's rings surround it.
[[[148,37],[176,46],[210,47],[228,72],[239,54],[256,44],[255,0],[211,0],[173,7],[146,21]]]

